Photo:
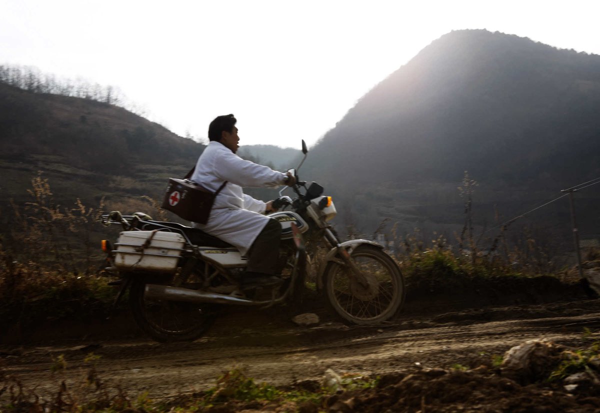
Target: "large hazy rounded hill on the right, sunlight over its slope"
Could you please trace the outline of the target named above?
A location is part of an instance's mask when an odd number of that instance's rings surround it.
[[[446,225],[460,232],[457,187],[468,170],[479,182],[477,223],[490,228],[600,176],[599,112],[600,56],[454,31],[365,94],[307,166],[352,205],[341,219],[353,225],[361,217],[367,232],[382,217],[406,231]],[[568,229],[563,205],[540,211],[536,222],[560,220]],[[600,232],[594,225],[590,231]]]

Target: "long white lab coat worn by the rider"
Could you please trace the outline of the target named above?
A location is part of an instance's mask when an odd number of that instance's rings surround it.
[[[240,158],[222,143],[212,140],[196,163],[191,181],[215,192],[227,185],[215,198],[205,225],[192,223],[246,255],[269,218],[263,215],[266,204],[244,194],[242,187],[277,187],[286,174]]]

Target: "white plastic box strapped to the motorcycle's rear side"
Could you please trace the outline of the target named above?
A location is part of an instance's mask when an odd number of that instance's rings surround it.
[[[115,244],[115,267],[128,271],[173,273],[184,244],[184,237],[175,232],[121,232]]]

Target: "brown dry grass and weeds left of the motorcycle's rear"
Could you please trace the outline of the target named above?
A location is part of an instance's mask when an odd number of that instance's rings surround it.
[[[106,316],[115,292],[102,271],[103,202],[97,208],[79,199],[58,205],[41,175],[28,192],[31,201],[13,203],[10,231],[0,235],[0,330],[48,318]],[[142,210],[157,208],[152,199],[122,203],[123,208],[142,205]]]

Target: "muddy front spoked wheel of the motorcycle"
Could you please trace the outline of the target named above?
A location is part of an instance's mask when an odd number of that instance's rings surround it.
[[[346,324],[379,324],[404,303],[404,280],[394,260],[376,246],[361,245],[352,259],[367,285],[354,280],[346,265],[330,261],[325,269],[325,298]]]

